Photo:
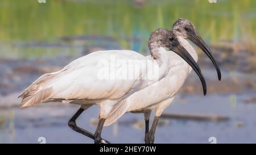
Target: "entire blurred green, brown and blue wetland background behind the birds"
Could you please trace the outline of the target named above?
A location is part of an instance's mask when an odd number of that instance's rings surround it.
[[[203,97],[192,72],[164,111],[155,143],[210,143],[210,137],[217,143],[256,143],[254,0],[1,0],[0,143],[39,143],[39,137],[46,143],[93,143],[68,127],[79,106],[47,103],[20,109],[18,94],[42,74],[93,51],[131,49],[149,55],[151,32],[170,29],[178,18],[195,24],[223,78],[217,80],[209,58],[197,49],[208,94]],[[98,111],[89,108],[77,124],[94,132]],[[143,115],[123,115],[103,129],[102,137],[144,143]]]

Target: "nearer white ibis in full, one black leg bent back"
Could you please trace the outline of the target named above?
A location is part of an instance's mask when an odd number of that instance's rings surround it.
[[[168,74],[170,68],[174,65],[168,55],[168,53],[172,52],[167,52],[169,49],[189,62],[204,82],[199,67],[189,53],[179,44],[175,33],[158,29],[152,32],[148,43],[151,52],[149,57],[127,50],[97,51],[72,61],[57,72],[44,74],[19,96],[22,98],[21,107],[35,106],[45,102],[80,104],[80,109],[69,120],[69,127],[92,138],[94,143],[109,143],[101,139],[101,131],[105,119],[109,118],[110,112],[120,107],[121,100],[148,85],[152,85]],[[111,66],[114,63],[113,57],[114,61],[118,61],[118,65],[114,65],[115,68],[127,66],[127,62],[135,62],[131,60],[143,61],[144,64],[142,66],[146,66],[146,68],[141,68],[139,71],[137,69],[138,74],[133,79],[100,78],[102,68],[108,68],[108,66],[102,66],[102,64],[110,64]],[[146,64],[148,60],[152,61],[152,64],[156,62],[159,67],[159,79],[154,82],[141,78],[142,74],[151,69]],[[98,64],[101,65],[99,66]],[[125,67],[122,69],[125,69]],[[134,72],[134,69],[128,68],[125,72]],[[93,104],[100,106],[99,123],[94,134],[76,125],[77,117]]]

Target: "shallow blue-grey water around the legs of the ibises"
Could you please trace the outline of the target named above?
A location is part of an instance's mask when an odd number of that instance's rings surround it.
[[[209,143],[209,137],[216,137],[217,143],[256,143],[256,104],[243,102],[250,95],[237,94],[234,103],[230,101],[230,95],[177,95],[164,112],[218,114],[228,116],[229,120],[209,122],[160,119],[159,124],[162,125],[156,129],[155,143]],[[1,128],[0,142],[39,143],[39,137],[46,137],[46,143],[93,143],[88,137],[68,127],[67,122],[77,108],[76,105],[48,103],[26,109],[1,110],[4,114],[12,111],[15,116]],[[97,118],[97,114],[97,106],[89,108],[80,116],[77,124],[94,132],[96,125],[90,122]],[[13,122],[13,129],[10,122]],[[141,125],[135,125],[138,122]],[[127,113],[118,120],[115,127],[104,127],[102,132],[102,137],[112,143],[143,143],[143,136],[142,114]]]

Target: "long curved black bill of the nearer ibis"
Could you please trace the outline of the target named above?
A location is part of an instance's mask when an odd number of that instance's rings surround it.
[[[193,59],[193,57],[181,45],[177,45],[175,49],[171,49],[171,50],[174,51],[181,58],[183,58],[192,67],[192,69],[195,70],[197,76],[199,76],[200,81],[201,81],[201,83],[203,85],[204,95],[206,95],[206,93],[207,93],[207,85],[206,85],[204,76],[201,73],[201,69],[199,68],[199,66],[197,65],[196,61]]]

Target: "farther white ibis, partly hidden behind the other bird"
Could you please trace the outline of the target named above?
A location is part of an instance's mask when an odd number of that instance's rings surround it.
[[[125,114],[125,112],[144,113],[144,120],[146,124],[145,143],[154,143],[155,129],[160,115],[162,115],[162,112],[166,107],[170,106],[172,100],[174,100],[176,92],[183,85],[185,79],[192,70],[190,66],[193,66],[193,64],[197,62],[197,53],[186,39],[193,41],[193,43],[195,43],[203,50],[204,53],[207,54],[217,70],[218,79],[221,80],[220,69],[214,60],[208,45],[203,41],[203,39],[201,39],[199,35],[197,35],[195,26],[193,26],[189,20],[180,18],[174,23],[172,31],[176,34],[179,43],[185,49],[187,49],[189,54],[193,57],[193,61],[186,62],[184,61],[186,59],[181,58],[187,56],[190,57],[190,55],[183,55],[183,53],[180,55],[180,53],[176,54],[175,52],[168,52],[171,68],[167,76],[160,79],[159,82],[156,82],[154,85],[145,87],[144,89],[130,95],[128,98],[123,99],[118,104],[119,107],[114,108],[112,112],[110,112],[104,125],[112,124],[115,122],[115,120]],[[200,77],[200,69],[195,71]],[[203,83],[205,95],[207,93],[207,87],[205,85],[204,78],[202,77],[203,76],[201,76],[200,79]],[[148,123],[152,110],[155,110],[155,118],[150,131],[148,131]]]

